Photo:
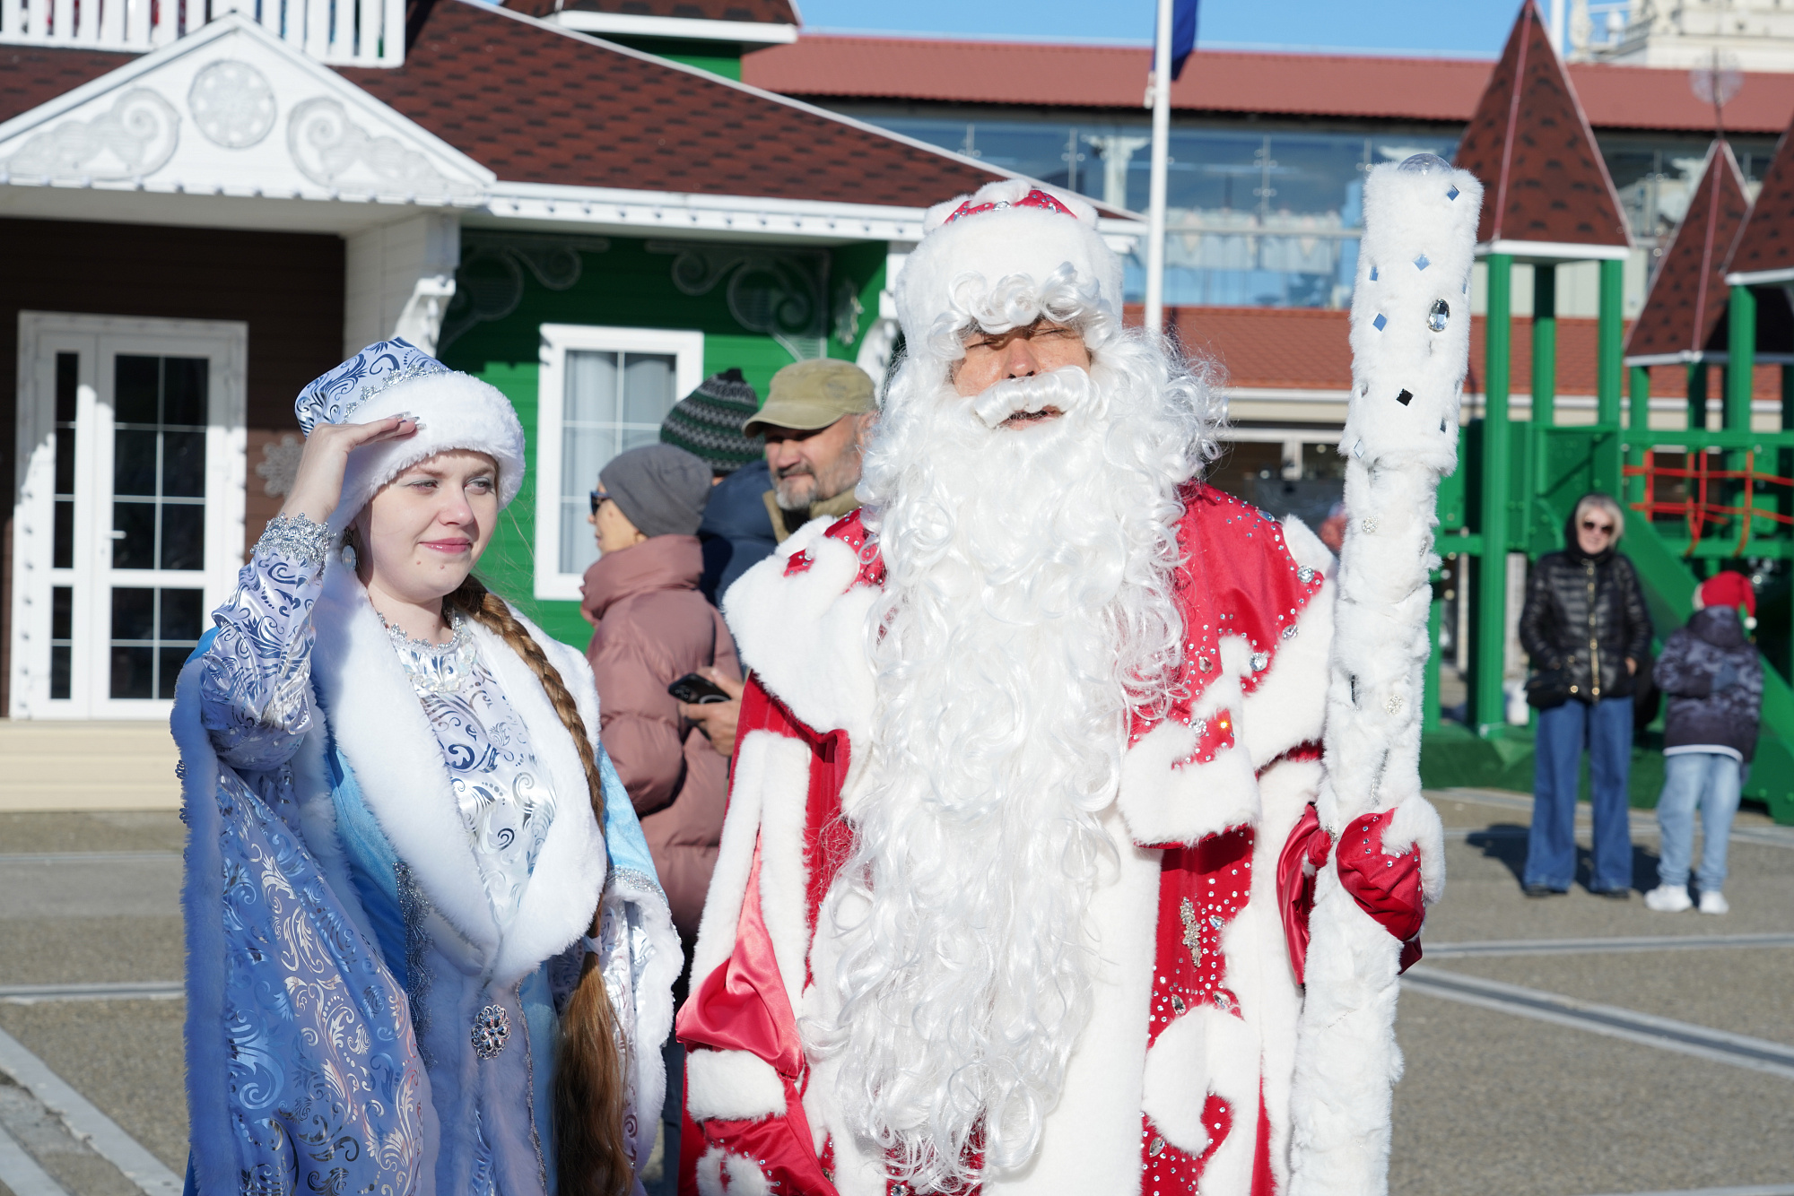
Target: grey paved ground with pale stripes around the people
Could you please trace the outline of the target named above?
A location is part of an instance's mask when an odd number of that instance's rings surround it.
[[[1530,800],[1433,798],[1450,880],[1401,999],[1392,1194],[1794,1192],[1794,830],[1740,814],[1733,913],[1667,916],[1636,895],[1527,900]],[[1636,819],[1638,891],[1656,882],[1652,827]],[[178,981],[181,830],[172,814],[0,814],[0,1031],[176,1174],[183,1002],[23,986]],[[0,1130],[0,1173],[11,1137],[48,1196],[140,1191],[4,1076]]]

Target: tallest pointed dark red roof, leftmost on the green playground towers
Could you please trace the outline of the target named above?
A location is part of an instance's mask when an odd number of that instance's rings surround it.
[[[1532,0],[1464,129],[1457,165],[1482,179],[1482,244],[1633,244],[1595,131]]]

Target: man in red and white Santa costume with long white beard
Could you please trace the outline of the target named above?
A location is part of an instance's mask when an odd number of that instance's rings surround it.
[[[1310,805],[1333,558],[1198,481],[1218,398],[1123,328],[1084,201],[933,208],[897,308],[865,507],[725,597],[682,1191],[1277,1192],[1338,1137],[1293,1088],[1387,1124],[1399,1067],[1299,1069],[1317,866],[1392,956],[1423,907],[1412,843]]]

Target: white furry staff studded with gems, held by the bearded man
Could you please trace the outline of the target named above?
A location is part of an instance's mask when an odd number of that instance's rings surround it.
[[[1353,393],[1340,452],[1346,511],[1331,676],[1328,780],[1317,802],[1338,839],[1394,810],[1383,852],[1419,848],[1428,904],[1444,889],[1439,816],[1421,796],[1421,669],[1432,604],[1439,479],[1457,468],[1469,364],[1469,278],[1482,185],[1432,154],[1371,170],[1353,290]],[[1389,1189],[1390,1088],[1401,1076],[1401,943],[1347,893],[1329,857],[1310,918],[1297,1038],[1290,1196]],[[1354,1092],[1351,1099],[1340,1094]],[[1313,1094],[1328,1092],[1331,1099]],[[1326,1180],[1322,1182],[1322,1176]]]

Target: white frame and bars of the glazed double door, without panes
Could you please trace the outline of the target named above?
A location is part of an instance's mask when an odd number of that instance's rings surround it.
[[[14,719],[167,719],[169,699],[109,698],[104,692],[104,646],[91,635],[97,586],[102,577],[131,583],[126,570],[102,568],[93,531],[104,513],[84,504],[97,500],[99,479],[111,473],[111,445],[86,436],[75,455],[74,568],[52,568],[56,507],[56,368],[57,350],[83,355],[77,389],[77,421],[95,423],[100,346],[111,353],[205,355],[212,371],[206,412],[206,559],[201,572],[205,610],[215,610],[237,586],[242,568],[248,432],[249,326],[222,319],[149,319],[127,316],[77,316],[65,312],[18,314],[18,491],[13,506],[13,667],[9,714]],[[156,585],[160,570],[142,581]],[[50,698],[50,588],[72,585],[74,689],[66,699]],[[205,622],[201,622],[205,629]]]

